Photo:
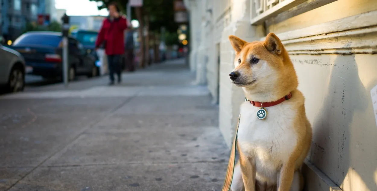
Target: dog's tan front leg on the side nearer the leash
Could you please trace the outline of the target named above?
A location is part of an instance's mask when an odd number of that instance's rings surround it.
[[[255,162],[252,158],[244,155],[241,150],[239,151],[239,164],[245,191],[255,191]]]

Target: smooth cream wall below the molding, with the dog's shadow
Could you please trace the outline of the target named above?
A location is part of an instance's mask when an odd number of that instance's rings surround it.
[[[313,126],[310,161],[343,191],[375,191],[377,55],[293,55]]]

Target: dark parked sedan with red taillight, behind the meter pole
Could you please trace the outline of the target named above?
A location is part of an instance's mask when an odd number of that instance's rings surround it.
[[[31,31],[22,34],[12,44],[12,48],[25,59],[26,73],[44,78],[63,76],[62,34],[50,31]],[[98,68],[93,55],[87,53],[77,39],[68,38],[68,80],[76,76],[97,76]]]

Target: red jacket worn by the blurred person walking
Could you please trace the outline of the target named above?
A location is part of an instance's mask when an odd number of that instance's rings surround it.
[[[98,48],[105,42],[106,55],[122,55],[124,53],[124,30],[127,29],[127,20],[121,16],[113,21],[106,18],[97,36],[95,46]]]

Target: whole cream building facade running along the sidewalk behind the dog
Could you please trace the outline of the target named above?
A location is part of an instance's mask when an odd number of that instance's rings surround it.
[[[290,53],[313,128],[303,167],[305,191],[377,190],[376,0],[185,0],[185,5],[190,67],[219,103],[219,128],[228,146],[244,101],[228,76],[235,56],[228,36],[255,41],[273,32]]]

